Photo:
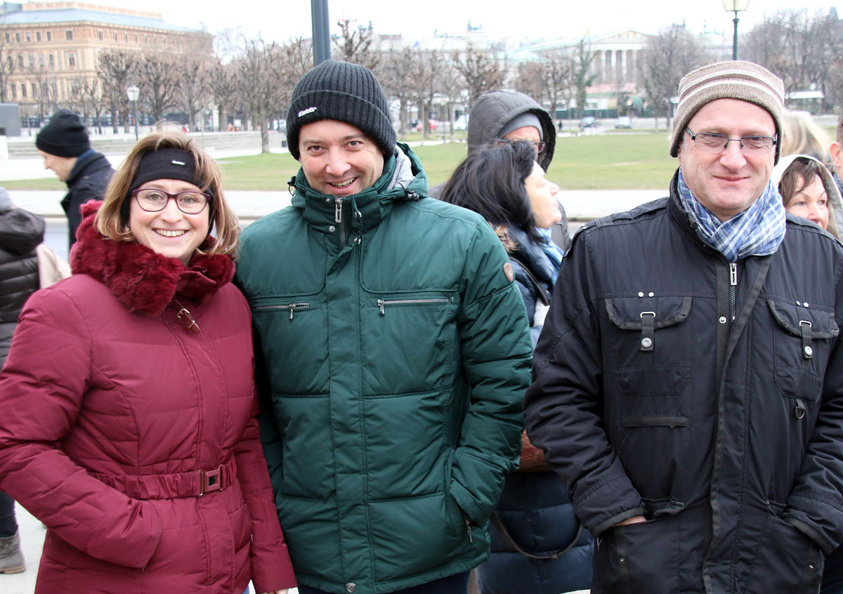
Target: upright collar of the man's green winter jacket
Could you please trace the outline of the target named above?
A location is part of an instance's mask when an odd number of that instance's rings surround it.
[[[329,227],[336,225],[338,206],[348,209],[352,230],[366,233],[377,227],[399,201],[416,201],[427,196],[427,174],[421,163],[407,145],[398,142],[394,155],[384,162],[384,174],[374,185],[354,195],[338,198],[320,194],[310,187],[303,169],[298,170],[293,185],[296,192],[292,204],[303,212],[311,226],[330,233]]]

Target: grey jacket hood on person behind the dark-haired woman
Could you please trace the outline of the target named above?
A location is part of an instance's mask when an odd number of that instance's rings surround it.
[[[526,113],[537,115],[541,121],[545,152],[541,153],[536,160],[547,171],[556,148],[556,129],[553,127],[553,119],[540,104],[523,93],[496,91],[477,99],[471,108],[469,118],[469,153],[488,142],[498,140],[504,126],[518,115]]]

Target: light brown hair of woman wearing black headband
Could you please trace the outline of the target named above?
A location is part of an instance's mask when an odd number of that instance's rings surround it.
[[[129,193],[132,181],[137,174],[138,163],[146,153],[177,148],[193,155],[196,161],[196,179],[203,192],[212,195],[208,206],[208,218],[217,242],[211,249],[203,253],[226,254],[234,257],[237,252],[240,237],[240,226],[234,211],[228,206],[223,195],[222,172],[219,165],[201,148],[196,147],[193,140],[182,132],[166,131],[153,132],[144,136],[132,148],[132,152],[111,177],[105,190],[103,206],[99,208],[94,226],[101,235],[115,241],[134,241],[129,230],[128,201],[132,200]]]

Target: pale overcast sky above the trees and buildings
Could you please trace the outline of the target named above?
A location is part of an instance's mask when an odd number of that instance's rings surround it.
[[[97,3],[139,7],[137,0],[99,0]],[[781,8],[806,8],[813,15],[816,11],[827,13],[830,7],[836,7],[843,16],[843,2],[837,0],[750,0],[749,9],[738,13],[738,31],[748,31],[765,14],[776,13]],[[246,35],[260,32],[266,40],[282,41],[311,35],[309,0],[184,0],[180,3],[146,0],[142,9],[163,13],[164,19],[174,24],[188,27],[203,24],[210,33],[239,25]],[[368,24],[371,20],[377,33],[400,33],[408,39],[432,37],[435,29],[440,34],[460,35],[469,21],[474,26],[482,25],[486,35],[493,40],[509,36],[569,39],[624,29],[647,33],[683,21],[693,32],[699,32],[704,26],[731,32],[733,26],[733,13],[723,11],[722,0],[579,3],[561,0],[529,3],[511,0],[329,0],[332,32],[338,30],[335,24],[341,18],[357,19],[359,24]]]

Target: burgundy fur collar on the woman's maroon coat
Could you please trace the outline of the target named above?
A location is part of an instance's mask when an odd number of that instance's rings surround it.
[[[104,238],[94,227],[101,204],[89,201],[82,206],[78,241],[70,252],[71,270],[102,282],[130,311],[157,315],[174,297],[202,302],[234,278],[234,262],[226,255],[196,254],[187,267],[140,243]],[[209,238],[201,247],[212,241]]]

